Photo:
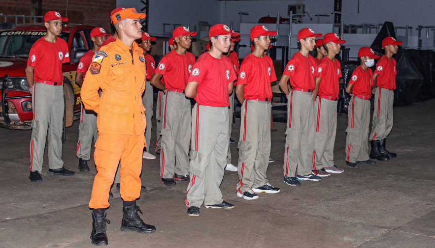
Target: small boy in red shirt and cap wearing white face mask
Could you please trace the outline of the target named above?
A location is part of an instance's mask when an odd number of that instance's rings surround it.
[[[374,165],[375,161],[368,158],[368,125],[370,123],[370,97],[373,85],[373,72],[370,68],[374,59],[379,58],[369,47],[363,47],[358,52],[360,66],[352,73],[346,92],[352,95],[349,102],[346,165],[358,168],[358,165]]]

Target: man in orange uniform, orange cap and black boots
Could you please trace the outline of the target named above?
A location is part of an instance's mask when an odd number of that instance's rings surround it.
[[[91,241],[107,245],[106,212],[108,196],[116,169],[121,160],[121,197],[124,201],[121,231],[151,233],[156,230],[145,224],[137,212],[140,195],[142,150],[145,144],[145,114],[142,93],[145,89],[145,59],[134,40],[142,37],[135,8],[122,9],[111,16],[118,39],[95,53],[83,83],[81,98],[87,110],[98,113],[99,137],[94,160],[97,175],[89,202],[93,209]],[[101,98],[98,89],[101,88]]]

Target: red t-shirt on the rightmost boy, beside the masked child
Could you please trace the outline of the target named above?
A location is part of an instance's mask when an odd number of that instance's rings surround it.
[[[379,74],[376,85],[386,89],[396,89],[396,59],[383,55],[376,64],[374,74]]]

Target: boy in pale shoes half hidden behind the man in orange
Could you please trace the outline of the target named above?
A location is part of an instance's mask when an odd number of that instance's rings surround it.
[[[142,39],[136,40],[139,47],[143,50],[143,56],[145,57],[146,64],[146,86],[145,92],[142,96],[142,104],[145,107],[145,118],[146,118],[146,130],[145,130],[145,141],[146,147],[143,148],[142,158],[144,159],[155,159],[156,156],[149,153],[150,145],[151,145],[151,129],[152,129],[152,121],[151,117],[153,116],[153,86],[150,83],[150,79],[154,74],[154,69],[156,68],[156,62],[154,61],[153,56],[149,55],[149,51],[151,51],[151,41],[156,40],[156,37],[150,36],[147,32],[142,32]]]

